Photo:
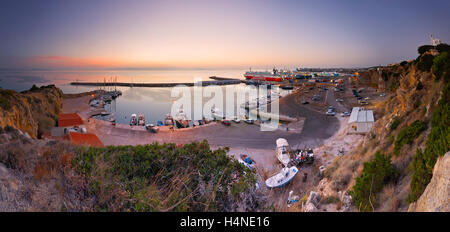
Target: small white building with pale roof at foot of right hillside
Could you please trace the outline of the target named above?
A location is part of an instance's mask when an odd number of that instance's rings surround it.
[[[349,134],[365,134],[372,129],[375,122],[372,110],[364,110],[362,107],[353,107],[348,123]]]

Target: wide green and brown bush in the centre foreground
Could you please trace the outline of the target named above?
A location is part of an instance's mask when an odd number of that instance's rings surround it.
[[[226,153],[206,141],[91,147],[80,149],[73,165],[99,211],[227,211],[256,177]]]

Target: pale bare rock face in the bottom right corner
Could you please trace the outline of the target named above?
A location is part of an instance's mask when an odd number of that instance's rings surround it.
[[[433,169],[433,178],[409,212],[450,212],[450,152],[440,157]]]

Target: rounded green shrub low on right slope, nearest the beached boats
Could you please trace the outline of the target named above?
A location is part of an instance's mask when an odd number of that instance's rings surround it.
[[[377,151],[372,161],[364,163],[363,171],[350,191],[356,207],[360,211],[376,208],[376,193],[386,184],[396,181],[398,175],[398,170],[391,164],[391,156]]]

